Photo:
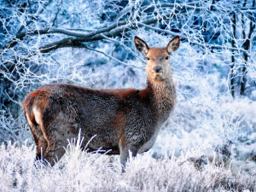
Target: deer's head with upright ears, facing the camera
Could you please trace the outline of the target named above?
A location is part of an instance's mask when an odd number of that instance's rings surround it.
[[[135,36],[134,44],[138,51],[146,56],[148,78],[163,81],[171,75],[170,55],[177,50],[180,40],[176,36],[165,48],[149,48],[143,39]]]

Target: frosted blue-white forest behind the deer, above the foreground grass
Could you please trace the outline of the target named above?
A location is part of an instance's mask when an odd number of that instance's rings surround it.
[[[255,0],[1,0],[2,150],[33,144],[21,107],[30,91],[55,82],[143,89],[146,60],[134,36],[166,46],[178,35],[177,106],[148,153],[191,153],[190,162],[206,157],[255,178],[255,21]]]

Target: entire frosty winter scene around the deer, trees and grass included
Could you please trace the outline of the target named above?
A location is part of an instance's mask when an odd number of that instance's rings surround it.
[[[255,1],[89,2],[0,0],[0,191],[256,191]],[[176,35],[177,105],[125,173],[79,136],[55,166],[34,161],[29,92],[144,89],[134,36],[164,47]]]

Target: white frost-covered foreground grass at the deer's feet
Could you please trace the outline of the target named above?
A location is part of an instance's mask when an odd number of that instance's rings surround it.
[[[253,191],[256,178],[232,174],[223,166],[172,154],[156,160],[140,154],[121,173],[118,156],[89,154],[70,144],[54,166],[37,162],[35,148],[23,144],[0,147],[1,191]]]

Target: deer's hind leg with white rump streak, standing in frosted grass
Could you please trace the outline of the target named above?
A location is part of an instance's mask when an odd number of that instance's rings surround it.
[[[37,143],[37,158],[41,160],[41,148],[43,148],[43,160],[51,166],[60,160],[66,150],[68,140],[77,137],[77,126],[68,122],[68,118],[55,115],[54,109],[33,108],[34,125],[31,126],[32,133]]]

